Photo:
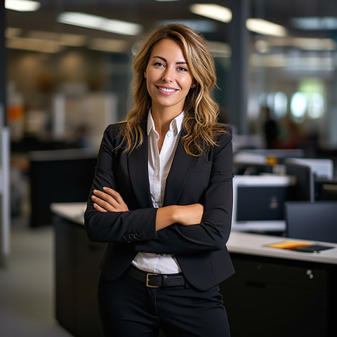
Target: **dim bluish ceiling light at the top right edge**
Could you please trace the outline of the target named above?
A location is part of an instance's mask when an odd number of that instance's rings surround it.
[[[293,27],[303,30],[335,30],[337,29],[337,18],[331,16],[292,18],[291,24]]]

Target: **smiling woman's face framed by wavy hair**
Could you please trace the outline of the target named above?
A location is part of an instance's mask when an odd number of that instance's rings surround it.
[[[180,42],[162,39],[154,46],[145,78],[152,111],[168,107],[177,115],[183,111],[193,78]]]

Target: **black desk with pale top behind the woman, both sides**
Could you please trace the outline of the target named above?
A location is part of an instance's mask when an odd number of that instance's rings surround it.
[[[88,241],[83,227],[85,206],[51,205],[55,313],[60,325],[74,336],[103,336],[96,289],[105,244]],[[236,273],[220,284],[232,337],[334,336],[337,251],[300,253],[265,247],[283,239],[232,232],[227,247]]]

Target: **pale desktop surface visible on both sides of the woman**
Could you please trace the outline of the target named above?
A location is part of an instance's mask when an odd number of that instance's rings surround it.
[[[51,210],[53,213],[57,214],[58,216],[62,216],[67,220],[74,221],[79,225],[84,225],[83,214],[85,209],[86,203],[83,202],[51,204]],[[337,265],[337,244],[326,243],[326,245],[334,246],[336,249],[323,251],[322,253],[302,253],[298,251],[289,251],[286,249],[276,249],[265,246],[267,244],[282,242],[285,239],[289,238],[232,231],[230,234],[230,239],[227,242],[227,248],[231,253],[266,256],[271,258],[284,258],[290,260],[312,261],[317,263],[329,263]],[[296,241],[308,242],[308,240],[298,239],[296,239]]]

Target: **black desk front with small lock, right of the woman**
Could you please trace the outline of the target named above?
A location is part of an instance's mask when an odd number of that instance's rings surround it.
[[[329,266],[241,254],[232,260],[236,273],[220,284],[232,336],[333,336]]]

